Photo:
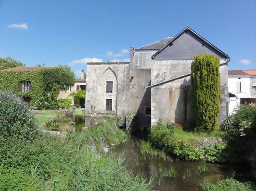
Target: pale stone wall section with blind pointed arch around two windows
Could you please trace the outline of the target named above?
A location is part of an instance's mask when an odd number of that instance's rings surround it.
[[[106,78],[116,79],[115,85],[113,82],[113,90],[116,89],[116,92],[113,92],[112,95],[106,95],[106,86],[102,82],[102,80],[107,80],[103,79],[107,71],[111,72],[105,76]],[[128,96],[130,90],[129,74],[128,62],[87,63],[85,113],[107,113],[106,98],[112,96],[112,113],[125,116],[130,108]]]

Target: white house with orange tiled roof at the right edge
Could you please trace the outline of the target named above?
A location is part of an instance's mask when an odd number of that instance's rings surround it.
[[[229,114],[239,104],[256,103],[256,70],[229,70],[228,91],[236,95],[230,97]]]

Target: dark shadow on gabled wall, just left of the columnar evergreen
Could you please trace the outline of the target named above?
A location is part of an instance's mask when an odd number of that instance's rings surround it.
[[[176,89],[175,91],[180,91],[175,109],[175,122],[182,126],[187,126],[187,124],[194,126],[191,79],[189,78],[189,80],[187,80],[184,78],[182,84],[180,84],[180,89]]]

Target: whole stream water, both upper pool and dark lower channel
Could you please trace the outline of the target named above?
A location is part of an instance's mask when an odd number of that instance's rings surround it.
[[[96,127],[98,122],[103,121],[102,118],[76,115],[60,118],[55,122],[61,124],[75,122],[73,126],[69,127],[69,131],[82,132],[82,127]],[[204,180],[215,183],[218,178],[225,178],[233,172],[235,172],[234,178],[241,182],[252,180],[248,166],[206,163],[208,170],[198,173],[198,162],[179,160],[172,156],[169,156],[170,160],[166,161],[163,158],[142,155],[139,144],[140,140],[145,138],[146,135],[143,131],[136,131],[127,135],[122,144],[110,146],[106,151],[116,157],[122,155],[125,158],[124,164],[134,173],[134,176],[140,173],[147,178],[154,178],[152,186],[155,190],[199,191],[200,183],[204,183]],[[176,170],[176,176],[172,178],[166,176],[171,166],[174,166]]]

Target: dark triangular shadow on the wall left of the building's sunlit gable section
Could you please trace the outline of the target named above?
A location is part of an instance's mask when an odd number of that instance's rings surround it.
[[[151,85],[151,80],[148,86]],[[149,107],[151,111],[151,89],[147,88],[146,92],[141,100],[141,104],[136,113],[136,117],[132,122],[132,131],[143,130],[151,126],[151,112],[146,115],[146,107]]]

